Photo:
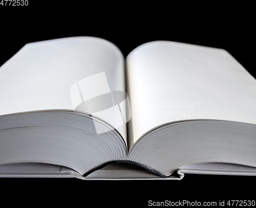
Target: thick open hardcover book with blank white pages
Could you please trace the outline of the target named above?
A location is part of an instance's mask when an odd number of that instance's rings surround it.
[[[256,80],[223,49],[153,41],[125,59],[95,37],[29,43],[0,67],[0,99],[3,177],[110,163],[110,178],[118,163],[256,175]]]

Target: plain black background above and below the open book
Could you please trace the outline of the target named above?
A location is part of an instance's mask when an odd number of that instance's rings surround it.
[[[29,1],[28,7],[0,6],[0,65],[26,43],[72,36],[94,36],[113,42],[124,57],[154,40],[204,45],[227,50],[255,77],[255,16],[250,5],[189,5],[157,3],[142,8],[97,3]],[[48,4],[48,5],[47,5]],[[62,7],[66,4],[65,8]],[[74,6],[74,7],[72,7]],[[130,9],[125,11],[128,6]],[[111,10],[112,8],[112,10]],[[114,9],[113,9],[114,8]],[[209,11],[209,8],[212,10]],[[104,11],[104,12],[102,12]],[[246,106],[246,103],[245,103]],[[181,181],[83,181],[75,178],[0,178],[10,203],[81,202],[80,205],[146,206],[153,201],[255,200],[252,176],[186,174]],[[132,190],[132,191],[130,191]],[[4,195],[2,195],[4,196]],[[3,197],[5,199],[5,197]]]

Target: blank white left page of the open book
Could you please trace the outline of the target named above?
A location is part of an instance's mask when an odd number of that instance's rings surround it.
[[[113,106],[113,91],[125,91],[124,58],[116,45],[100,38],[28,43],[0,67],[0,115],[85,109],[100,118],[102,107]],[[119,119],[113,113],[111,118]],[[126,141],[125,125],[116,129]]]

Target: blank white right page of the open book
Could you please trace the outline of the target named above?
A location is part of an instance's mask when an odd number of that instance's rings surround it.
[[[181,120],[256,124],[256,80],[227,51],[171,41],[140,45],[126,58],[129,146]]]

